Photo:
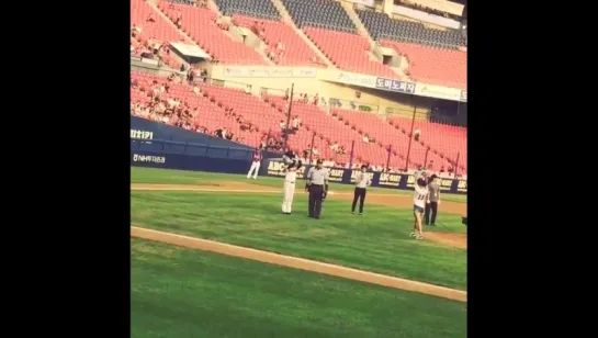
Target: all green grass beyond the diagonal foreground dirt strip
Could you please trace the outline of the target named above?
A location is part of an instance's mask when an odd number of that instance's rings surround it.
[[[212,177],[132,169],[133,182],[208,184]],[[306,203],[304,195],[296,195],[297,212],[286,216],[280,214],[278,194],[132,191],[131,222],[466,290],[466,250],[409,238],[410,210],[371,204],[365,216],[359,217],[348,213],[347,201],[331,199],[325,202],[323,218],[316,221],[306,217]],[[439,219],[442,226],[436,230],[465,232],[460,216],[440,214]]]

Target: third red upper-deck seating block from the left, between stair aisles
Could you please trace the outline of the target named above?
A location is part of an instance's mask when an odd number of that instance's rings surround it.
[[[326,64],[317,57],[312,48],[297,35],[292,26],[280,21],[257,20],[255,18],[235,14],[234,22],[238,26],[251,29],[256,22],[266,29],[263,31],[263,42],[268,45],[268,50],[273,50],[273,61],[279,66],[308,66],[325,67]],[[281,42],[284,47],[284,54],[280,56],[277,50],[277,44]]]

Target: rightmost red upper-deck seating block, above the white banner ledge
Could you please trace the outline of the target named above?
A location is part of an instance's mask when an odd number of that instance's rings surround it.
[[[415,81],[465,89],[467,87],[467,54],[409,43],[382,40],[381,46],[404,55],[409,67],[405,74]]]

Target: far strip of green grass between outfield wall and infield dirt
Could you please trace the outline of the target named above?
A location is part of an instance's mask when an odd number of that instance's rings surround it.
[[[247,180],[242,174],[214,173],[214,172],[198,172],[183,170],[165,170],[154,168],[131,167],[132,183],[168,183],[168,184],[207,184],[217,182],[245,182],[263,187],[281,188],[282,180],[275,177],[259,177],[258,180]],[[331,183],[331,188],[336,191],[353,191],[353,185]],[[369,188],[372,193],[388,193],[388,194],[411,194],[408,190]],[[444,201],[466,202],[467,195],[463,194],[442,194]]]

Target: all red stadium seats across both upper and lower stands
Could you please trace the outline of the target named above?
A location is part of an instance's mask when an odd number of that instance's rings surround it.
[[[357,34],[357,29],[339,2],[332,0],[281,0],[289,10],[297,27],[335,64],[336,67],[360,74],[396,78],[397,75],[386,65],[370,59],[369,41]],[[284,46],[283,56],[277,55],[273,61],[280,66],[317,67],[324,63],[312,50],[293,27],[284,23],[270,0],[215,0],[219,10],[233,16],[233,23],[251,29],[255,22],[263,26],[260,38],[269,50],[280,52],[278,43]],[[251,47],[236,42],[227,32],[215,24],[218,13],[193,5],[192,0],[160,1],[158,9],[172,22],[165,20],[158,11],[143,0],[132,0],[132,23],[143,29],[142,33],[132,36],[133,49],[142,46],[149,37],[163,43],[185,41],[187,33],[199,46],[215,60],[236,65],[267,65],[267,60]],[[317,8],[317,10],[315,10]],[[414,80],[425,83],[466,88],[466,53],[456,46],[466,44],[466,35],[454,30],[438,31],[427,29],[421,23],[390,19],[386,14],[357,10],[361,21],[373,38],[382,46],[393,48],[407,58],[409,67],[405,72]],[[153,22],[148,22],[153,13]],[[173,22],[181,15],[181,29]],[[182,32],[181,32],[182,31]],[[455,35],[456,34],[456,35]],[[348,48],[347,46],[350,46]],[[133,50],[132,49],[132,50]],[[167,64],[179,67],[174,58],[167,56]],[[133,72],[140,88],[148,88],[154,81],[166,82],[166,78],[144,72]],[[258,146],[267,135],[279,138],[281,121],[286,123],[289,101],[281,95],[263,93],[261,97],[247,93],[242,88],[198,83],[201,93],[193,92],[188,83],[170,82],[167,98],[177,98],[191,108],[198,108],[200,114],[193,122],[193,128],[212,133],[216,127],[225,127],[239,142]],[[132,88],[132,103],[148,103],[151,97],[147,91]],[[327,103],[328,105],[331,102]],[[332,104],[293,102],[292,115],[297,115],[302,127],[289,138],[289,146],[297,153],[309,148],[315,135],[315,144],[320,158],[346,164],[353,150],[353,162],[366,162],[404,168],[410,139],[411,119],[393,115],[385,119],[375,113],[366,113],[348,106]],[[238,116],[242,116],[241,127]],[[158,117],[155,117],[158,119]],[[160,116],[163,123],[172,120]],[[246,124],[255,126],[250,132]],[[416,120],[414,129],[421,131],[419,140],[411,139],[409,167],[415,168],[425,161],[431,169],[445,168],[449,162],[460,157],[461,170],[466,170],[466,129],[464,127]],[[369,137],[369,143],[364,142]],[[346,154],[337,154],[330,148],[339,144]],[[391,147],[390,147],[391,146]],[[388,153],[388,148],[391,149]],[[390,156],[388,156],[390,155]]]

